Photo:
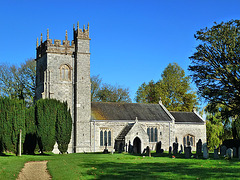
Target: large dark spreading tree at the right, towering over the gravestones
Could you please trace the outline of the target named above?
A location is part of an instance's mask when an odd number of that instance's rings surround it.
[[[198,93],[210,104],[223,104],[227,116],[240,112],[240,21],[215,23],[195,34],[200,43],[190,57]]]

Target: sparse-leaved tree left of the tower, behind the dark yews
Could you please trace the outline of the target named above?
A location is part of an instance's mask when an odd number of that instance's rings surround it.
[[[36,62],[28,59],[21,66],[0,65],[1,96],[23,99],[27,106],[35,97]]]

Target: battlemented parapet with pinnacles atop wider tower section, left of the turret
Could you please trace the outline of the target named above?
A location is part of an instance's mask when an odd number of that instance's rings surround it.
[[[47,30],[47,39],[43,42],[42,40],[42,34],[40,39],[40,45],[38,44],[37,39],[37,58],[42,57],[46,53],[56,53],[56,54],[66,54],[66,55],[72,55],[75,50],[75,44],[74,41],[71,42],[68,41],[68,34],[66,31],[65,40],[57,40],[54,39],[52,42],[52,39],[49,38],[49,30]]]

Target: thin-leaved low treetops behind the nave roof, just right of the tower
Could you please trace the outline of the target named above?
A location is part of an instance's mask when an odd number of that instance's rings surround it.
[[[132,102],[128,88],[102,84],[99,75],[91,77],[91,100],[92,102]]]

